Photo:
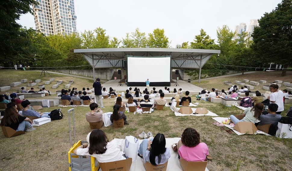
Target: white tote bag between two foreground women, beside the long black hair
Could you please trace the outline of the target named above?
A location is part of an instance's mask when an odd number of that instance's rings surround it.
[[[139,140],[132,135],[126,136],[124,146],[126,158],[132,158],[132,162],[135,162],[137,160],[138,148]]]

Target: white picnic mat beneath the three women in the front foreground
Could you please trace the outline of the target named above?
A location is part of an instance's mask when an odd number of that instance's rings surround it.
[[[166,148],[169,149],[170,151],[170,158],[168,159],[168,164],[167,164],[167,171],[182,171],[182,166],[179,163],[179,158],[177,152],[174,152],[171,145],[174,143],[177,143],[181,138],[165,138],[166,140]],[[118,141],[118,145],[124,149],[125,145],[125,139],[117,139],[115,138],[114,140]],[[142,140],[139,139],[139,145],[141,144]],[[144,164],[143,164],[143,159],[140,157],[137,158],[137,161],[132,162],[132,166],[130,171],[146,171]],[[209,171],[206,167],[205,171]]]

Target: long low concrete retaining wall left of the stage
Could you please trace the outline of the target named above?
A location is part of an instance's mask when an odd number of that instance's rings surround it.
[[[55,72],[73,74],[93,78],[93,70],[53,70]],[[95,69],[95,78],[111,79],[115,69]]]

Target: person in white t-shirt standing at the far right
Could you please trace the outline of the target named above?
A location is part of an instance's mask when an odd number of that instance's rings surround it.
[[[272,83],[269,86],[270,92],[272,92],[269,96],[268,99],[271,103],[278,104],[278,110],[276,114],[281,114],[281,112],[284,110],[284,93],[282,91],[279,91],[279,86],[277,83]]]

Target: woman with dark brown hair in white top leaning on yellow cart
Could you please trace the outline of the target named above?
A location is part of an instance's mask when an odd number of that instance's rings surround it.
[[[112,140],[109,142],[107,135],[105,135],[102,130],[94,129],[89,134],[90,145],[80,145],[73,151],[74,154],[95,157],[99,163],[107,163],[126,159],[123,157],[123,151],[120,150],[117,141]]]

